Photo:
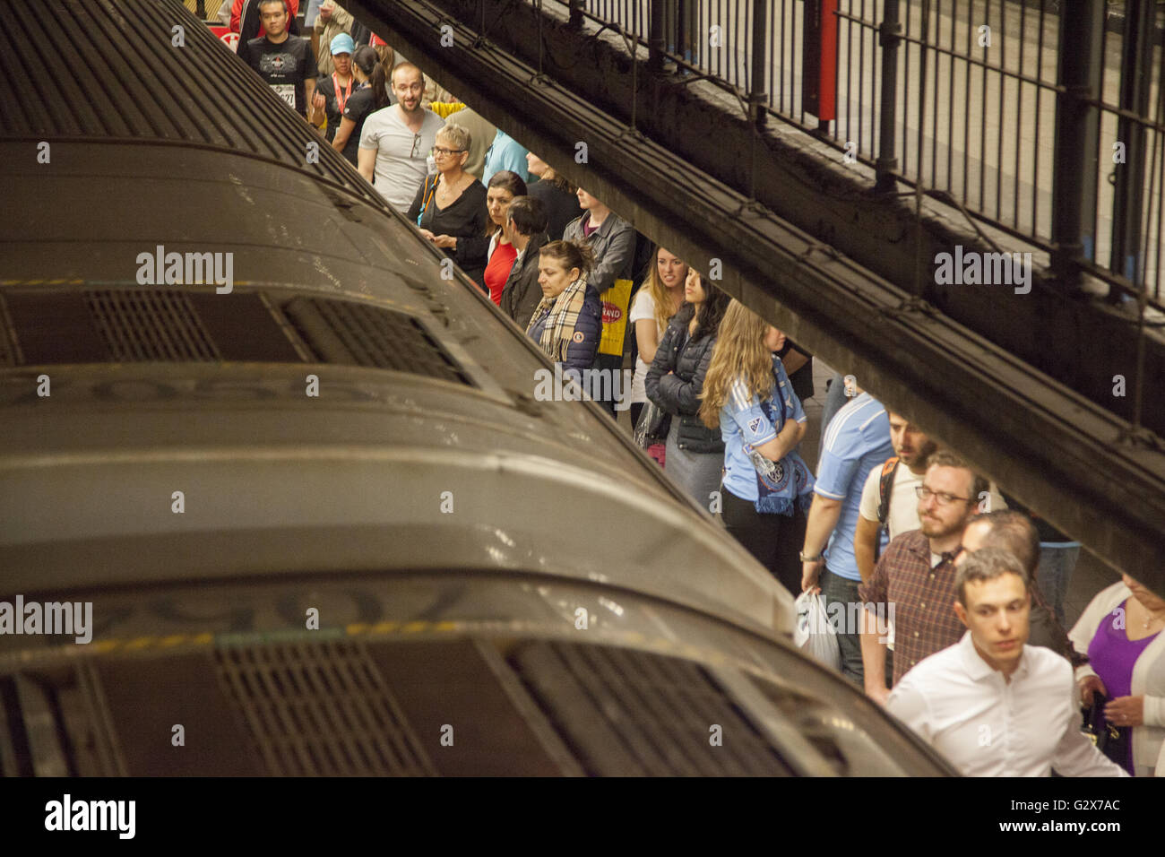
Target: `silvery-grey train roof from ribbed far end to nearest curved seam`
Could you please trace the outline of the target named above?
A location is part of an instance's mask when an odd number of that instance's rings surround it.
[[[788,632],[789,593],[594,405],[539,401],[541,352],[346,161],[303,160],[319,138],[209,33],[171,47],[176,8],[45,3],[0,34],[40,94],[0,106],[12,591],[480,567]],[[169,253],[231,254],[230,293],[142,285]]]

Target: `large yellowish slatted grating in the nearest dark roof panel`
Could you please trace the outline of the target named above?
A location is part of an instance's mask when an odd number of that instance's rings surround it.
[[[436,775],[363,646],[226,647],[216,661],[269,773]]]

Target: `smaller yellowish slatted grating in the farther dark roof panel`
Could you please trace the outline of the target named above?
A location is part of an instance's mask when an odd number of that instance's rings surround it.
[[[181,291],[86,291],[85,303],[118,363],[214,361],[214,343]]]

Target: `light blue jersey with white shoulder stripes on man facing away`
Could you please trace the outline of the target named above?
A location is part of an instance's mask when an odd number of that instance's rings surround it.
[[[861,579],[854,557],[854,532],[862,486],[870,470],[892,455],[890,417],[869,393],[862,393],[841,408],[825,429],[813,491],[831,500],[842,501],[841,517],[825,550],[826,566],[839,577]]]

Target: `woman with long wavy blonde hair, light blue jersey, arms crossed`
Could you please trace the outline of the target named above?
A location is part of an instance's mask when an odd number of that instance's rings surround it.
[[[725,441],[725,527],[793,595],[813,475],[796,452],[805,412],[781,358],[785,336],[739,301],[720,322],[700,419]]]

